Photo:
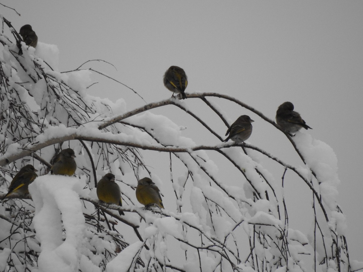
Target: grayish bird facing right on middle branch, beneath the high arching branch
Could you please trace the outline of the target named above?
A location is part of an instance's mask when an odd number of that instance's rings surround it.
[[[241,115],[236,121],[228,128],[226,135],[228,137],[224,140],[227,142],[232,139],[236,144],[241,144],[251,136],[252,122],[254,122],[248,115]]]

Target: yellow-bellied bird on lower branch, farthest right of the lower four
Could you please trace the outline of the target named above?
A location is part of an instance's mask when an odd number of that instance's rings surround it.
[[[142,178],[136,187],[136,198],[144,206],[156,205],[164,209],[158,186],[150,178]]]

